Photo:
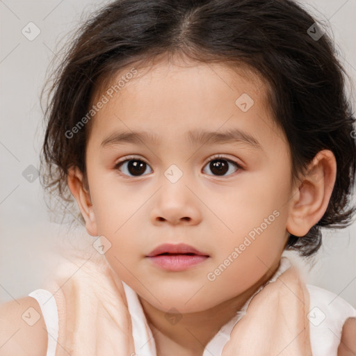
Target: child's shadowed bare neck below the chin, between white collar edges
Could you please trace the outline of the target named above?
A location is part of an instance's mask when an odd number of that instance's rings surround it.
[[[177,355],[202,355],[207,343],[236,315],[257,289],[270,280],[278,266],[279,261],[243,293],[202,312],[170,314],[156,309],[138,296],[154,335],[157,355],[172,355],[175,354],[173,350]]]

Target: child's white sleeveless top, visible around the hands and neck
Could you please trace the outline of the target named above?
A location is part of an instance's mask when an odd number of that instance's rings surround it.
[[[280,268],[278,268],[268,283],[275,282],[277,277],[290,266],[291,263],[289,259],[285,257],[282,258]],[[122,284],[124,285],[129,313],[131,315],[135,353],[137,356],[156,356],[156,346],[154,344],[153,335],[148,327],[147,319],[145,318],[140,300],[138,300],[137,293],[126,283],[122,282]],[[254,295],[259,293],[262,288],[263,286],[261,286]],[[307,290],[310,296],[308,318],[313,356],[337,356],[337,348],[340,343],[343,323],[345,323],[346,319],[350,316],[356,317],[356,309],[348,304],[346,300],[343,300],[343,298],[318,286],[307,284]],[[38,300],[42,310],[44,323],[46,324],[49,334],[47,356],[55,356],[58,339],[58,310],[56,300],[52,294],[45,289],[36,289],[29,293],[29,296]],[[234,325],[245,315],[245,311],[253,296],[245,302],[245,305],[236,313],[236,316],[220,328],[220,331],[207,344],[202,356],[211,356],[211,353],[216,356],[221,356],[225,344],[229,341],[230,333]],[[147,330],[149,330],[149,335],[147,335]],[[147,339],[152,339],[153,342],[147,343]]]

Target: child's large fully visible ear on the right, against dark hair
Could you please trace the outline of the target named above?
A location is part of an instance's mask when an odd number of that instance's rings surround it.
[[[286,223],[290,234],[305,236],[321,220],[329,204],[336,175],[334,154],[328,149],[318,152],[290,201]]]

